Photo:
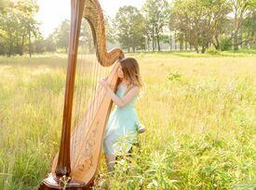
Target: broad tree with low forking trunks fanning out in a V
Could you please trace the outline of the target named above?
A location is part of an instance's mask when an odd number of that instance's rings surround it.
[[[230,9],[226,0],[176,0],[173,12],[175,27],[194,45],[197,53],[200,48],[205,53]]]

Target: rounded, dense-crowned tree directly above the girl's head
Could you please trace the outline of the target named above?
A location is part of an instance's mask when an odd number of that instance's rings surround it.
[[[145,25],[139,10],[134,6],[122,6],[115,15],[115,29],[118,42],[122,47],[130,48],[135,52],[136,48],[145,48]]]

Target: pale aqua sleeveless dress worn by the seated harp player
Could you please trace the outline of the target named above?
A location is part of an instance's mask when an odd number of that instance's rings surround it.
[[[122,98],[126,94],[126,86],[119,84],[115,95]],[[124,155],[137,141],[140,121],[136,114],[134,104],[137,95],[123,108],[115,109],[111,113],[106,125],[104,137],[104,151],[107,155]]]

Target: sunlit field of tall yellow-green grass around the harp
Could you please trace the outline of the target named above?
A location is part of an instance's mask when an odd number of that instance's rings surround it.
[[[256,55],[131,54],[147,132],[95,189],[255,189]],[[58,151],[67,58],[0,57],[0,189],[36,189]]]

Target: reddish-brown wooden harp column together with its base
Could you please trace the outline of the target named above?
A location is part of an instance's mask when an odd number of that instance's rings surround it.
[[[51,172],[46,179],[40,184],[40,190],[62,189],[61,180],[65,175],[70,179],[67,181],[67,189],[84,190],[89,188],[89,184],[77,181],[70,176],[70,139],[71,139],[71,120],[74,98],[74,77],[77,60],[77,50],[79,44],[79,35],[82,15],[86,0],[71,0],[71,32],[69,39],[68,69],[66,78],[65,101],[63,108],[61,146],[58,157],[58,164],[55,173]]]

